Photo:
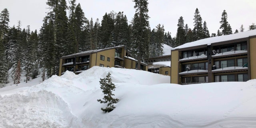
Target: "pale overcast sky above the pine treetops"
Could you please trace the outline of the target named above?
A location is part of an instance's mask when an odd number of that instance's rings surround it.
[[[7,8],[10,13],[9,26],[17,26],[18,20],[22,28],[30,25],[31,30],[40,30],[42,20],[46,16],[47,0],[0,0],[0,11]],[[68,0],[67,4],[68,4]],[[135,9],[132,0],[76,0],[80,3],[86,18],[102,20],[104,14],[124,12],[128,21],[131,21]],[[198,8],[203,22],[206,21],[208,30],[217,33],[223,10],[228,14],[228,22],[233,32],[243,24],[245,30],[252,23],[256,23],[256,0],[148,0],[148,15],[151,29],[158,24],[164,25],[166,32],[176,35],[177,24],[180,16],[184,24],[194,28],[194,13]]]

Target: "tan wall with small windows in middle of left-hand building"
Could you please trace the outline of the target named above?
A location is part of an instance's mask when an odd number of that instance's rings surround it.
[[[100,55],[104,56],[104,60],[100,60]],[[110,58],[110,61],[108,61],[108,57]],[[105,50],[102,52],[97,53],[97,64],[92,66],[100,66],[100,64],[104,64],[104,67],[110,66],[114,67],[114,60],[115,60],[115,49]]]

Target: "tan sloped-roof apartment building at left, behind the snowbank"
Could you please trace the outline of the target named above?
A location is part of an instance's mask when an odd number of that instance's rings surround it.
[[[60,58],[59,76],[67,70],[79,74],[92,66],[136,69],[137,62],[124,46],[89,50]],[[148,65],[141,63],[140,68],[147,71]]]

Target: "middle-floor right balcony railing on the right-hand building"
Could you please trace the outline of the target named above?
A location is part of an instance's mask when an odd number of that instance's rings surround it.
[[[248,68],[248,63],[240,62],[240,63],[230,63],[230,64],[220,64],[212,66],[212,70],[231,70],[231,69],[241,69]]]

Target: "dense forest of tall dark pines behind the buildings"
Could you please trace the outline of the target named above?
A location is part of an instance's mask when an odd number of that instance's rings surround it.
[[[139,62],[145,58],[162,55],[162,45],[176,47],[187,42],[210,37],[206,21],[203,22],[198,8],[194,12],[194,28],[184,24],[182,16],[178,19],[176,37],[165,32],[164,25],[158,24],[150,28],[148,16],[148,0],[133,0],[134,17],[128,21],[124,12],[106,12],[101,20],[86,18],[80,3],[76,0],[46,0],[48,13],[41,28],[30,30],[30,26],[21,28],[22,21],[16,26],[9,26],[7,8],[0,13],[0,88],[8,80],[20,82],[19,74],[30,79],[42,75],[42,81],[58,74],[60,57],[86,50],[95,50],[125,45]],[[132,8],[132,7],[131,7]],[[217,34],[232,34],[227,20],[227,12],[223,11],[220,28]],[[249,30],[256,29],[252,23]],[[243,32],[244,26],[235,33]],[[140,68],[138,64],[138,69]],[[11,74],[8,74],[8,71]]]

